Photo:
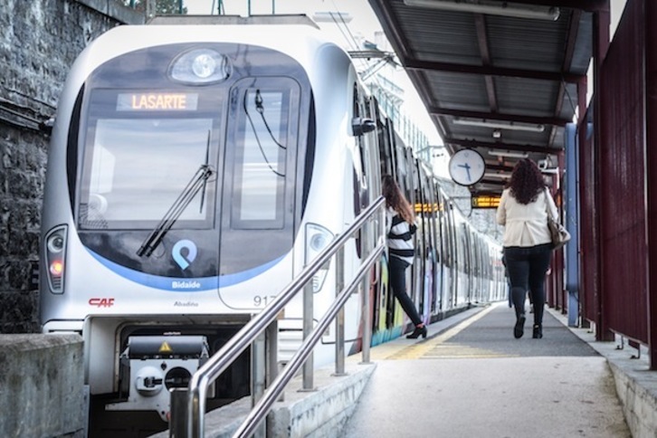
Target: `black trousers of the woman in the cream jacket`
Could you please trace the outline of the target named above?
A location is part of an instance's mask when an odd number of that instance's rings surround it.
[[[525,313],[527,290],[534,307],[534,325],[543,324],[545,306],[545,275],[552,260],[552,244],[509,246],[504,248],[507,272],[511,281],[511,298],[516,316]]]

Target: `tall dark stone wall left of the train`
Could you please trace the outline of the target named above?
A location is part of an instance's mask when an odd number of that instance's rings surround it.
[[[3,0],[0,8],[0,333],[38,327],[40,215],[48,135],[72,62],[91,40],[144,16],[118,0]]]

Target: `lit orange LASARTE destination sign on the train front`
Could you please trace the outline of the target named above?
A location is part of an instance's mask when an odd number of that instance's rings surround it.
[[[120,93],[117,97],[118,111],[195,111],[197,105],[196,93]]]

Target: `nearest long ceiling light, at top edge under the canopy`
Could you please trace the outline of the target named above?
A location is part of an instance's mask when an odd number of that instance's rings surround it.
[[[541,5],[522,5],[488,0],[404,0],[405,5],[442,9],[443,11],[503,15],[516,18],[556,21],[559,8]]]

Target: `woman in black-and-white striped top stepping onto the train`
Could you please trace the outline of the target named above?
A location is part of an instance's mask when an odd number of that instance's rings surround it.
[[[413,264],[415,214],[392,176],[383,176],[383,195],[386,198],[386,230],[389,257],[390,287],[402,309],[414,323],[413,333],[406,336],[426,338],[426,327],[417,309],[406,293],[406,268]]]

